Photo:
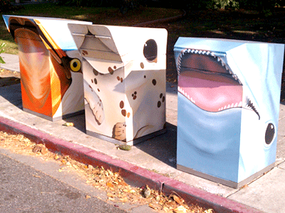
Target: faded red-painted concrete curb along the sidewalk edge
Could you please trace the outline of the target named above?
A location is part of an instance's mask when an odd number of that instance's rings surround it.
[[[0,131],[21,133],[36,143],[45,144],[50,151],[69,155],[71,158],[78,160],[81,163],[93,166],[103,166],[106,169],[113,170],[113,172],[118,172],[130,185],[135,185],[137,187],[149,185],[155,190],[160,190],[165,195],[170,195],[175,192],[177,195],[180,195],[185,202],[199,204],[201,207],[214,209],[215,212],[261,212],[233,200],[213,195],[195,187],[190,187],[183,182],[167,178],[118,158],[112,158],[103,153],[99,153],[98,151],[93,151],[90,148],[64,141],[60,138],[51,136],[48,133],[43,133],[42,131],[32,129],[31,127],[19,124],[16,121],[11,121],[4,117],[0,117]]]

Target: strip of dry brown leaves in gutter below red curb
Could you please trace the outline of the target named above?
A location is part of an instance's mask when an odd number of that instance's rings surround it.
[[[143,187],[132,187],[125,183],[119,173],[113,173],[101,167],[93,167],[79,163],[69,156],[58,155],[48,151],[43,144],[36,144],[23,135],[13,135],[0,131],[0,146],[9,150],[25,155],[40,155],[46,160],[56,160],[61,163],[63,171],[76,171],[86,180],[86,183],[93,185],[100,190],[105,190],[108,200],[113,202],[148,204],[157,212],[197,212],[197,213],[214,213],[212,209],[203,209],[197,205],[187,205],[185,201],[177,194],[165,196],[162,193],[150,189],[147,185]],[[89,197],[86,197],[88,199]]]

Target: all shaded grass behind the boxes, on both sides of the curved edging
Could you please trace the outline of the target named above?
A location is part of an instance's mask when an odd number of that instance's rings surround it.
[[[94,24],[134,26],[138,23],[168,18],[182,14],[177,9],[140,7],[138,10],[120,13],[117,8],[91,8],[56,6],[54,4],[25,5],[24,9],[11,12],[21,16],[43,16],[91,21]],[[1,14],[0,14],[1,15]],[[265,17],[257,11],[189,11],[185,18],[165,23],[153,23],[147,27],[166,28],[167,81],[176,82],[177,72],[173,47],[179,37],[227,38],[285,43],[285,9],[276,8],[272,16]],[[6,43],[5,53],[17,54],[16,44],[0,18],[0,43]],[[285,76],[285,75],[284,75]],[[285,79],[285,78],[284,78]],[[282,84],[285,89],[285,83]],[[284,90],[282,89],[282,91]],[[281,95],[285,99],[285,92]]]

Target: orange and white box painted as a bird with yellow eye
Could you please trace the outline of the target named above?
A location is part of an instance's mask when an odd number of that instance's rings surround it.
[[[83,113],[81,55],[62,18],[3,16],[19,47],[24,111],[55,121]]]

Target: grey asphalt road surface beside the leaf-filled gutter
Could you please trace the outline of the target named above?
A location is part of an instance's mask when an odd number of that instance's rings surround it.
[[[48,166],[47,173],[56,174],[56,165],[5,152],[0,151],[0,212],[125,212],[35,168]],[[27,165],[31,160],[33,167]]]

